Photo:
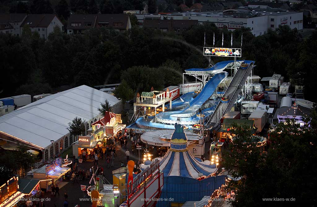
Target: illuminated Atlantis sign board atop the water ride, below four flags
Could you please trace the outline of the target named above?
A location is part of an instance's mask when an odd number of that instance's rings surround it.
[[[204,55],[221,57],[241,57],[241,48],[204,47]]]

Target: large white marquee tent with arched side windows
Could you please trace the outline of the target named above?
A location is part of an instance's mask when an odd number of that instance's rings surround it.
[[[42,152],[42,160],[48,161],[77,141],[66,129],[68,123],[76,116],[85,120],[87,134],[90,125],[104,116],[98,108],[105,99],[113,111],[121,111],[121,101],[116,97],[86,85],[44,97],[1,116],[0,140],[29,146]]]

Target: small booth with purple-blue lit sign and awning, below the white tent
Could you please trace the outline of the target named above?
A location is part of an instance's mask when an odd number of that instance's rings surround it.
[[[33,169],[29,171],[27,175],[31,176],[34,180],[39,179],[39,189],[42,191],[48,191],[51,189],[52,185],[58,185],[61,188],[61,185],[59,184],[65,179],[65,175],[70,170],[71,168],[67,167],[65,162],[63,164],[62,158],[56,158],[49,165],[44,165],[41,168]],[[33,191],[33,194],[34,193],[36,193],[36,191]]]

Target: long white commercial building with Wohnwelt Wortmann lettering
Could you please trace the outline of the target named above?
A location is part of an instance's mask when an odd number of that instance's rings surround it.
[[[252,9],[252,8],[251,8]],[[143,24],[144,19],[173,19],[198,20],[214,23],[218,28],[228,28],[233,31],[237,28],[250,28],[254,36],[265,34],[268,28],[278,28],[279,25],[288,25],[290,28],[303,29],[303,13],[282,11],[272,8],[245,8],[228,9],[224,11],[208,12],[178,12],[171,14],[135,14],[138,21]],[[256,10],[257,9],[257,10]],[[177,29],[177,28],[176,28]]]

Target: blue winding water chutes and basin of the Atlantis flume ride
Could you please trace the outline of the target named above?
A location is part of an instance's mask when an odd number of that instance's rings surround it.
[[[242,62],[242,61],[240,61]],[[239,63],[240,63],[239,62]],[[194,74],[196,71],[197,74],[215,74],[207,84],[204,86],[203,90],[197,95],[194,92],[189,92],[181,96],[179,99],[175,100],[172,103],[172,109],[175,108],[184,108],[183,110],[176,110],[176,111],[167,111],[162,112],[156,115],[155,122],[154,120],[144,119],[140,117],[136,120],[136,124],[140,128],[146,129],[174,129],[175,122],[179,124],[183,124],[188,126],[189,128],[192,127],[194,124],[199,124],[201,117],[197,116],[199,108],[205,104],[206,101],[212,96],[214,91],[216,90],[217,86],[220,82],[226,78],[225,72],[222,72],[225,68],[232,66],[234,61],[223,61],[217,63],[215,66],[203,69],[203,68],[192,68],[185,70],[186,73]],[[195,98],[193,96],[197,95]],[[216,105],[218,104],[217,100],[212,100],[209,103],[209,108],[202,110],[202,114],[204,117],[209,116],[214,112]]]

